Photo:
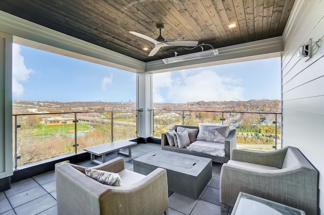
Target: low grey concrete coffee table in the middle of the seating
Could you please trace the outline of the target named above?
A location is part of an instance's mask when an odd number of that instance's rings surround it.
[[[157,167],[167,169],[170,191],[197,199],[212,178],[212,159],[156,150],[134,159],[134,171],[148,175]]]

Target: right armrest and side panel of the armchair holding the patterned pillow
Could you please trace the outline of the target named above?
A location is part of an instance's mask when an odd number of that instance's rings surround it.
[[[104,202],[101,204],[101,214],[130,214],[132,211],[133,215],[160,215],[168,208],[167,171],[156,168],[137,183],[112,187],[101,196],[100,202]]]

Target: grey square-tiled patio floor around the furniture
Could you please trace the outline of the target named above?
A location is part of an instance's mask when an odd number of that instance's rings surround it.
[[[133,159],[153,150],[160,150],[159,144],[147,143],[137,144],[132,147],[132,157],[118,155],[112,152],[107,155],[106,160],[115,157],[125,159],[125,168],[133,170]],[[100,160],[100,158],[98,159]],[[78,163],[82,166],[94,166],[93,163],[85,161]],[[188,198],[178,193],[169,195],[170,215],[227,215],[221,212],[219,203],[219,176],[221,164],[214,163],[212,167],[212,179],[200,194],[197,200]],[[33,215],[33,214],[57,214],[55,171],[38,175],[20,182],[13,183],[10,190],[0,192],[0,214],[1,215]]]

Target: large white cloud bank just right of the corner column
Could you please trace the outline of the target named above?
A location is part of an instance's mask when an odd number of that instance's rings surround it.
[[[154,102],[244,100],[240,79],[222,77],[212,70],[194,69],[182,70],[180,73],[154,74],[153,80],[156,80],[153,83]]]

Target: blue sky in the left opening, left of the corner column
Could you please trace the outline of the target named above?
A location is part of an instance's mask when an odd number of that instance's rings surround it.
[[[13,99],[136,102],[136,74],[14,45]]]

